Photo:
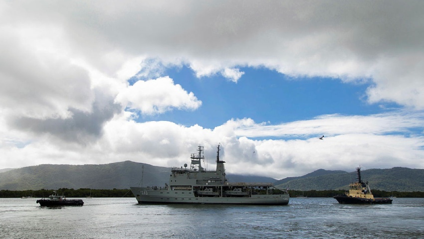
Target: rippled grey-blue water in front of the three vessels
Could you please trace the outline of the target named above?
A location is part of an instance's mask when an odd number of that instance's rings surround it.
[[[39,207],[0,199],[0,238],[424,238],[424,199],[342,205],[292,198],[287,206],[137,205],[134,198],[83,199]]]

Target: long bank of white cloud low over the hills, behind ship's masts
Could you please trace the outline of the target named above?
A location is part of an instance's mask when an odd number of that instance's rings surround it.
[[[332,135],[326,135],[324,140],[318,139],[320,134],[311,131],[311,128],[319,125],[317,120],[321,119],[337,122],[331,127],[327,126]],[[124,113],[106,122],[101,137],[89,145],[52,141],[48,135],[25,136],[20,133],[14,141],[2,142],[0,153],[5,158],[13,157],[17,160],[4,161],[3,167],[47,162],[97,164],[123,160],[171,167],[189,163],[190,153],[195,152],[201,144],[205,146],[208,167],[211,168],[214,167],[216,145],[220,143],[221,159],[226,161],[228,173],[280,179],[304,175],[319,168],[353,171],[359,164],[366,168],[391,168],[400,166],[399,162],[402,162],[404,167],[423,168],[421,159],[424,157],[424,137],[414,133],[416,129],[422,128],[423,120],[420,114],[383,114],[364,119],[323,116],[295,122],[292,127],[302,132],[305,137],[302,140],[283,139],[293,136],[292,130],[288,130],[285,124],[256,124],[251,119],[229,120],[211,130],[199,125],[187,127],[169,121],[138,123],[132,119],[131,113]],[[379,127],[372,129],[351,125],[352,121],[359,121],[364,126],[374,122]],[[347,125],[351,126],[346,129]],[[5,130],[3,128],[2,133],[11,137],[13,132]],[[399,134],[405,131],[410,132],[409,136]],[[281,139],[246,137],[265,134]],[[18,147],[17,142],[30,143]]]

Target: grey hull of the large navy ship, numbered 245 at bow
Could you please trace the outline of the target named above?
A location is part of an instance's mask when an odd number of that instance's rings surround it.
[[[201,197],[191,190],[148,190],[131,187],[139,204],[233,204],[233,205],[287,205],[288,194],[250,195],[248,197]]]

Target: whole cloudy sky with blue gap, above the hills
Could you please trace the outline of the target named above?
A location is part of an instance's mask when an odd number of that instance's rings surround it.
[[[424,169],[424,2],[0,0],[0,169]],[[319,137],[323,136],[323,139]]]

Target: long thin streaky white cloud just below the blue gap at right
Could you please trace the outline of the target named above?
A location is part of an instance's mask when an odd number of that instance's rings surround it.
[[[248,137],[299,137],[302,135],[338,135],[350,133],[388,134],[422,127],[422,112],[394,112],[370,116],[325,115],[279,125],[256,124],[251,119],[229,120],[235,135]]]

